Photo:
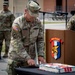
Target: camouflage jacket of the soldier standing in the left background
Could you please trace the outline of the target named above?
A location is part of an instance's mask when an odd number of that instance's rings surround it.
[[[0,11],[0,31],[10,31],[14,19],[11,11]]]

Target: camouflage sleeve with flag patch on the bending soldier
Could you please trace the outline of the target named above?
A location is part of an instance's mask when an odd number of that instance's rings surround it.
[[[18,23],[13,23],[11,32],[11,42],[9,57],[12,59],[28,60],[31,57],[26,52],[23,42],[21,41],[20,27]]]

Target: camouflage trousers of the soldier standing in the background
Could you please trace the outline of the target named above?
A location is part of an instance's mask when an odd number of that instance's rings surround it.
[[[5,40],[5,53],[8,53],[9,45],[10,45],[10,31],[0,31],[0,55],[2,51],[3,40]]]

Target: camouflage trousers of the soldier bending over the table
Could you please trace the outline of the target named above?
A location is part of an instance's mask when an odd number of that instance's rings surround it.
[[[6,71],[7,71],[8,75],[17,75],[15,68],[24,67],[24,66],[27,66],[26,62],[13,60],[12,63],[8,62]]]

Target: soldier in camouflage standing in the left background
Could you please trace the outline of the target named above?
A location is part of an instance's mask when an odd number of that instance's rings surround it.
[[[0,11],[0,59],[1,59],[1,50],[2,50],[2,43],[5,40],[5,54],[4,58],[8,57],[8,49],[10,44],[10,33],[11,33],[11,26],[13,20],[15,19],[14,15],[8,9],[8,3],[3,3],[3,10]]]

